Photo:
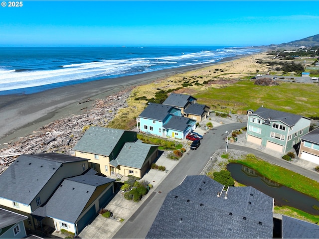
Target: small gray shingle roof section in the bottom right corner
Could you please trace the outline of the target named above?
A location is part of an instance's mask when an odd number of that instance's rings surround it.
[[[319,225],[283,215],[282,238],[319,238]]]

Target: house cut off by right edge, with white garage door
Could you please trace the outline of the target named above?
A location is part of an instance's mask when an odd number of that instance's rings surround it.
[[[319,165],[319,128],[300,137],[298,157]]]

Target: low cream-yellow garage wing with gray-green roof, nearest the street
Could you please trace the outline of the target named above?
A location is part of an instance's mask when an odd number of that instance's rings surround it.
[[[118,174],[142,178],[158,156],[158,145],[127,142],[110,165],[117,170]]]

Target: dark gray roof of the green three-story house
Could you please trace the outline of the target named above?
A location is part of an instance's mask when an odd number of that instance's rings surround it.
[[[264,107],[260,107],[257,111],[255,111],[253,114],[250,114],[249,116],[259,116],[260,118],[267,120],[269,122],[271,121],[277,121],[280,120],[283,123],[287,124],[288,126],[295,125],[300,119],[305,118],[299,115],[286,113],[282,111],[276,111],[267,109]],[[308,119],[308,118],[306,118]],[[310,119],[309,119],[310,120]]]

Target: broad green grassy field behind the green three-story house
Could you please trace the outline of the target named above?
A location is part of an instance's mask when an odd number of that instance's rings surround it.
[[[245,114],[248,109],[264,106],[302,116],[318,116],[319,84],[280,82],[279,86],[257,86],[241,80],[221,88],[209,88],[193,94],[199,104],[212,111]]]

